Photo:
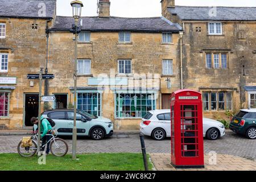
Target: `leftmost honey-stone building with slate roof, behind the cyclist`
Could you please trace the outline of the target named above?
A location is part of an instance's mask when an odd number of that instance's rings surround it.
[[[29,125],[38,114],[39,73],[46,62],[46,28],[56,14],[56,1],[1,1],[0,129]]]

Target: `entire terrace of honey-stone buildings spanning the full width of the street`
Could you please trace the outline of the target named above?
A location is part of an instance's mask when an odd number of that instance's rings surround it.
[[[168,109],[181,88],[203,93],[205,117],[255,107],[256,8],[161,2],[162,17],[110,16],[109,0],[100,0],[98,16],[80,19],[78,109],[138,129],[147,110]],[[1,1],[0,129],[30,126],[38,115],[39,81],[27,74],[40,68],[55,75],[42,91],[56,100],[42,108],[73,107],[73,23],[56,16],[56,0]]]

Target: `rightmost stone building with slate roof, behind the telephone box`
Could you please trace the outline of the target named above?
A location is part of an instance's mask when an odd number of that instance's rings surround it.
[[[204,116],[256,107],[256,7],[161,3],[162,15],[183,27],[183,85],[203,94]]]

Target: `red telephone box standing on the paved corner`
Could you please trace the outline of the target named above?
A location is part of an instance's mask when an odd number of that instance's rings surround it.
[[[176,168],[204,168],[200,92],[184,89],[171,94],[171,161]]]

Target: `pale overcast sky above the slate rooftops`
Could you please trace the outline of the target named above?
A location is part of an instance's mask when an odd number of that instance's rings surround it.
[[[70,2],[57,0],[57,15],[72,16]],[[82,16],[97,16],[97,0],[81,0]],[[121,17],[161,16],[160,0],[110,0],[110,15]],[[253,6],[256,0],[176,0],[181,6]]]

